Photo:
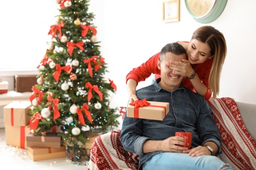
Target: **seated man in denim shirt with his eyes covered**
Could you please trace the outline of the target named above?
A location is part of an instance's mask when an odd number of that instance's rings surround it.
[[[161,49],[158,69],[161,78],[137,90],[139,99],[169,102],[169,113],[162,121],[128,118],[125,114],[121,143],[129,152],[140,155],[140,169],[231,169],[217,158],[221,154],[221,137],[202,95],[182,85],[182,76],[167,66],[186,59],[186,50],[178,43]],[[192,132],[191,149],[178,146],[184,138],[176,131]]]

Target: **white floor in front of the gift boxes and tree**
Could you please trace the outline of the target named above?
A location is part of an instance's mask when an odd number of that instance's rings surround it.
[[[45,169],[75,169],[87,170],[87,162],[73,162],[68,158],[58,158],[53,160],[32,161],[28,158],[28,150],[7,146],[5,143],[5,129],[0,128],[0,160],[1,167],[19,170],[45,170]]]

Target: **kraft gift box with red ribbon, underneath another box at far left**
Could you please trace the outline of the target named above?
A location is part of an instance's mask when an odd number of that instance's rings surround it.
[[[5,142],[7,145],[27,148],[28,133],[30,133],[30,126],[5,126]]]

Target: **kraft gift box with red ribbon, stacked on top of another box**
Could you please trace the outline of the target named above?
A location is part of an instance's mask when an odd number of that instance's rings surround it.
[[[26,126],[30,122],[30,101],[12,101],[3,108],[5,126]]]

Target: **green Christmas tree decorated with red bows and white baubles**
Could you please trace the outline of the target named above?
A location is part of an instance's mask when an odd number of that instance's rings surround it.
[[[119,122],[116,108],[110,108],[110,93],[116,85],[105,78],[107,66],[100,56],[94,15],[87,0],[57,0],[60,14],[51,25],[49,49],[38,65],[37,84],[30,96],[30,130],[47,135],[53,127],[75,153],[89,139],[89,133],[103,133]],[[78,150],[79,152],[79,150]],[[75,155],[78,157],[79,155]]]

